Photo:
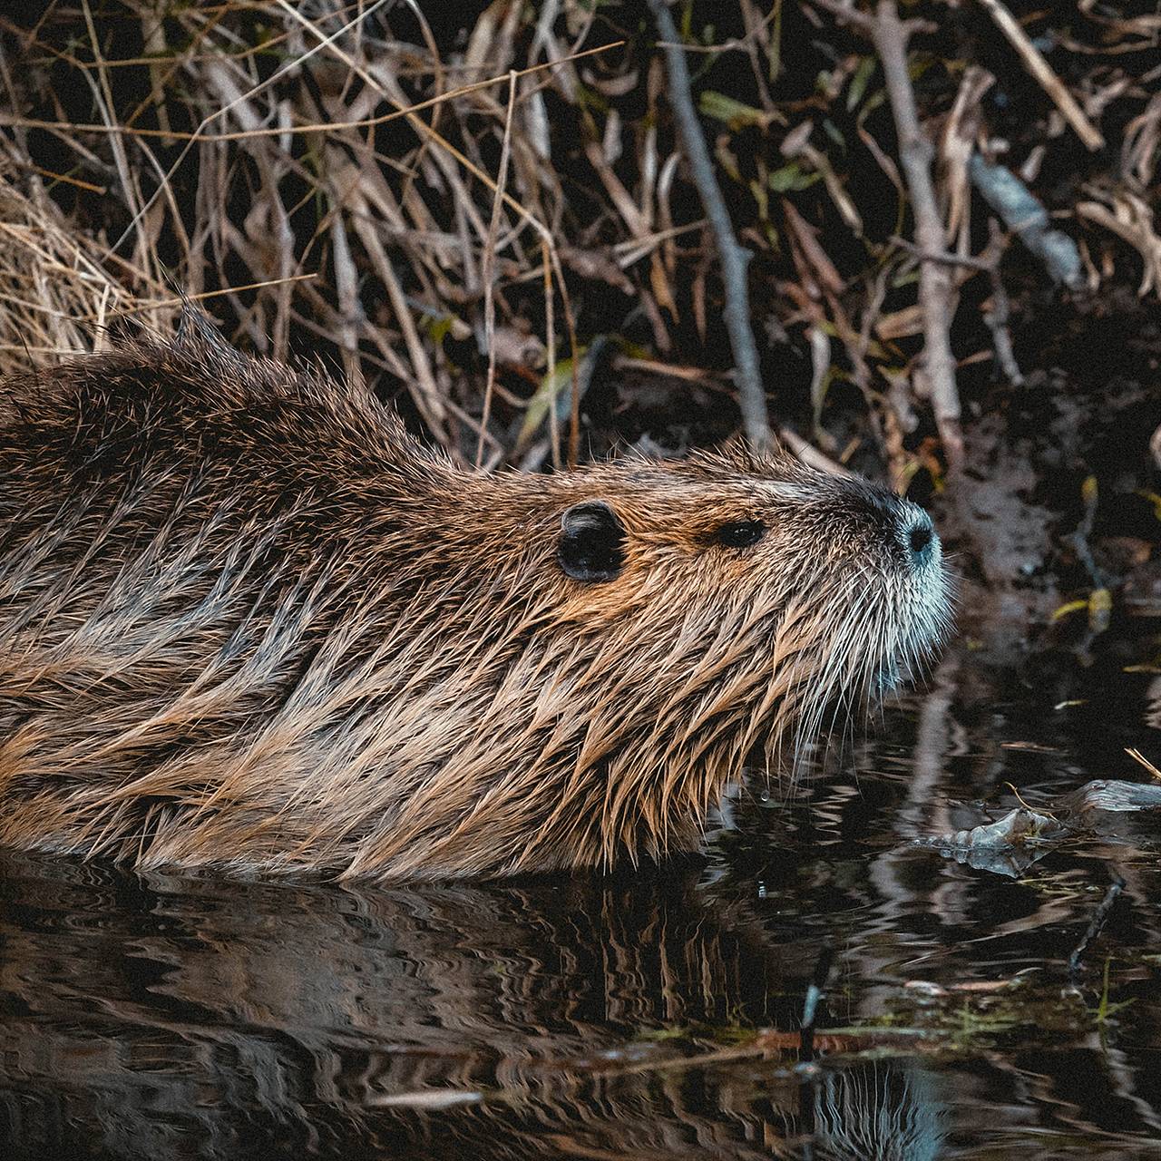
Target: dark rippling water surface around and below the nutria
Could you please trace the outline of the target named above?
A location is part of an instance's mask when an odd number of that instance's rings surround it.
[[[1123,669],[1001,680],[960,647],[853,765],[612,879],[0,856],[2,1155],[1161,1158],[1156,820],[1019,879],[909,845],[1007,812],[1004,783],[1146,779],[1123,748],[1161,760],[1161,678]]]

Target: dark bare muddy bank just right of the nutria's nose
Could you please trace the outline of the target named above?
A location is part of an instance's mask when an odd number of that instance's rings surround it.
[[[1149,635],[1161,614],[1161,325],[1128,294],[1024,303],[1018,318],[1025,382],[965,376],[966,468],[931,504],[958,554],[964,630],[997,658],[1087,662],[1113,622]],[[1102,589],[1106,608],[1079,607]]]

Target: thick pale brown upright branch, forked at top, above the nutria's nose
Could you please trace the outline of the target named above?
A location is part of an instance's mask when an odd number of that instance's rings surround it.
[[[962,463],[964,438],[959,427],[959,390],[956,387],[956,360],[949,334],[952,313],[952,275],[944,260],[946,251],[943,218],[936,204],[931,182],[931,142],[920,125],[907,71],[907,38],[928,27],[917,21],[900,20],[895,0],[879,0],[874,15],[856,8],[850,0],[813,0],[832,13],[839,23],[866,36],[882,62],[887,96],[899,137],[899,159],[903,166],[907,190],[915,216],[915,241],[920,254],[920,309],[923,312],[924,365],[930,384],[931,409],[947,466],[952,470]]]

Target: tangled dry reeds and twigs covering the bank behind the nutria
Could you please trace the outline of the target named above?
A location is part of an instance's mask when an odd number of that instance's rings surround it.
[[[1155,6],[678,3],[679,45],[658,7],[8,9],[0,369],[164,327],[180,291],[462,462],[727,438],[742,360],[675,51],[806,457],[938,485],[957,373],[1022,381],[1005,287],[1161,290]]]

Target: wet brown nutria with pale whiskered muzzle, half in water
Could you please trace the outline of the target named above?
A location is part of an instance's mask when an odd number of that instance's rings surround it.
[[[747,452],[466,471],[187,313],[0,387],[0,843],[395,879],[656,858],[946,605],[890,492]]]

